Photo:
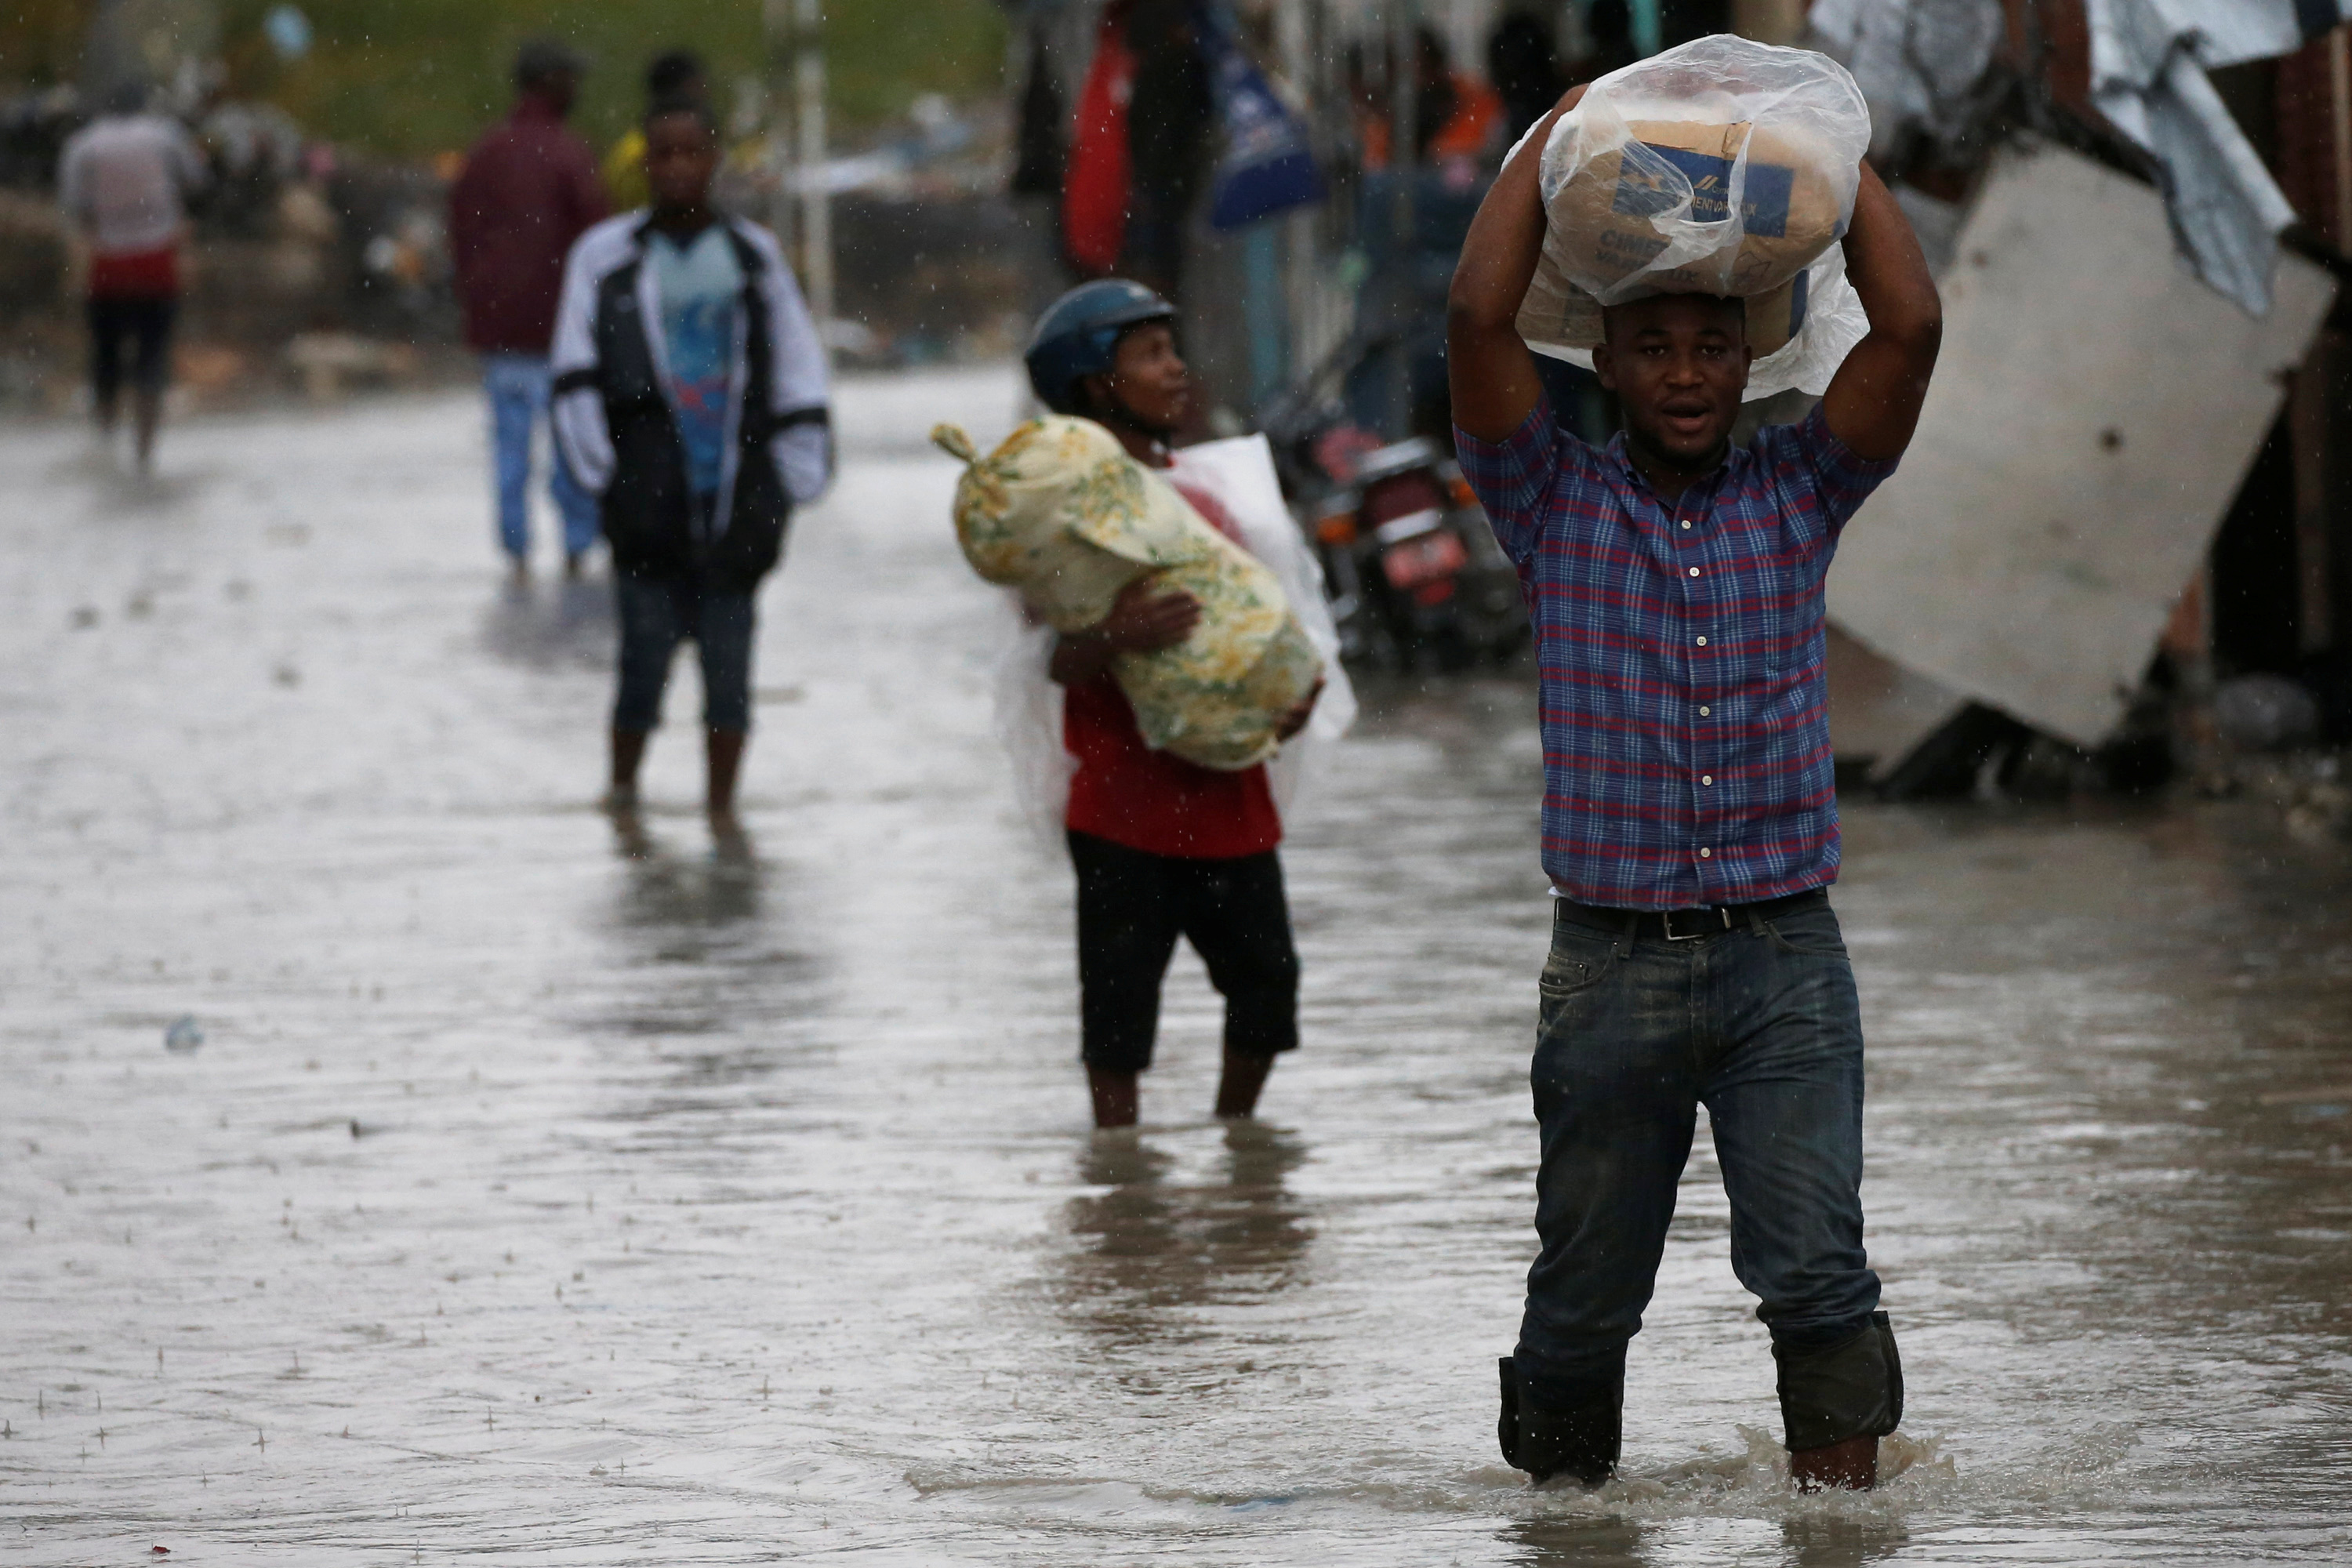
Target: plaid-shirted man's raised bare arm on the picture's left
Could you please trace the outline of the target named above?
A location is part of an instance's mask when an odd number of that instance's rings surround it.
[[[1571,87],[1559,106],[1536,122],[1503,174],[1496,176],[1470,221],[1463,256],[1446,292],[1446,383],[1454,390],[1454,423],[1482,442],[1501,442],[1536,409],[1543,383],[1536,360],[1519,341],[1519,301],[1543,252],[1543,143],[1552,122],[1585,96]]]

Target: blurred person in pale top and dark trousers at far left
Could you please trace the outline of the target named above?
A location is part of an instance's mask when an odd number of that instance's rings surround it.
[[[148,113],[146,99],[139,82],[118,87],[106,113],[66,141],[56,165],[56,200],[89,244],[89,390],[99,437],[113,449],[129,348],[139,473],[153,465],[162,425],[186,200],[205,183],[205,158],[186,127]]]

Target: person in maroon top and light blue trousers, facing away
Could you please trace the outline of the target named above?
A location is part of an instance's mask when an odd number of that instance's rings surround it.
[[[595,153],[564,129],[583,68],[562,42],[524,42],[515,52],[513,113],[473,143],[449,188],[449,261],[466,343],[482,355],[489,393],[499,548],[517,583],[532,571],[532,440],[548,411],[548,343],[564,254],[607,214]],[[548,463],[548,496],[564,527],[564,574],[579,576],[595,545],[597,510],[560,454]]]

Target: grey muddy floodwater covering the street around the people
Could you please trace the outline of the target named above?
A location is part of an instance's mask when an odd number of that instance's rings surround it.
[[[1011,414],[842,390],[727,844],[684,661],[642,835],[595,811],[604,588],[499,583],[473,397],[153,489],[0,435],[0,1561],[2352,1559],[2340,846],[1851,804],[1900,1474],[1788,1493],[1700,1138],[1623,1479],[1531,1493],[1531,686],[1367,691],[1265,1119],[1185,954],[1098,1143],[922,447]]]

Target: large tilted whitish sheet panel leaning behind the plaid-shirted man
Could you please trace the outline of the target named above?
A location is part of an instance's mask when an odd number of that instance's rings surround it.
[[[2164,197],[2004,153],[1943,277],[1919,435],[1846,529],[1830,616],[1955,691],[2096,745],[2336,294],[2284,256],[2251,317],[2176,259]]]

